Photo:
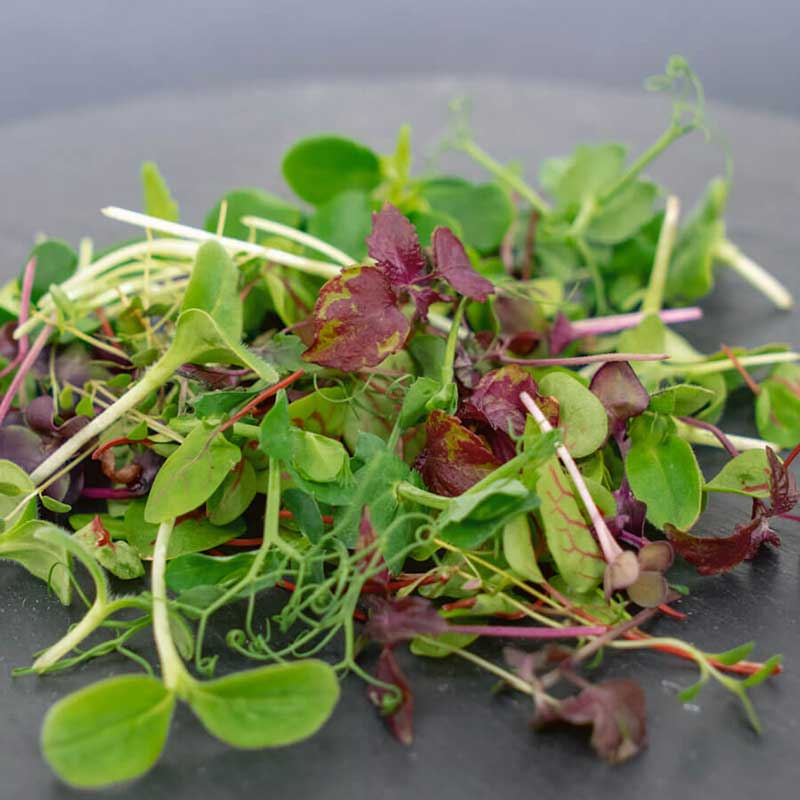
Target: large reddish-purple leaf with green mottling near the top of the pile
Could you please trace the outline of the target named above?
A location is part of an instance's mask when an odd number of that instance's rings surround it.
[[[383,272],[348,267],[320,289],[303,359],[348,372],[374,367],[403,347],[410,330]]]

